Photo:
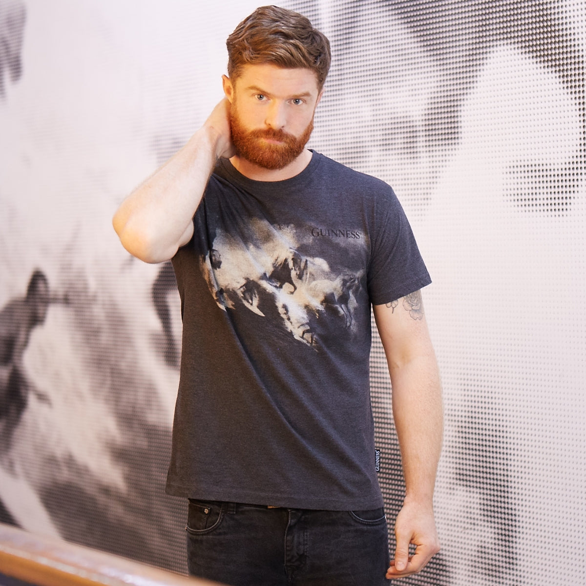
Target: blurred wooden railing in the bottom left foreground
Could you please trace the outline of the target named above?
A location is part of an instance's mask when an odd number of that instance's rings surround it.
[[[36,586],[216,584],[0,523],[0,584],[2,574]]]

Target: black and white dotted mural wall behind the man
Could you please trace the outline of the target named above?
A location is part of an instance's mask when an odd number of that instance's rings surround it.
[[[185,504],[164,495],[178,295],[111,217],[220,100],[257,5],[0,0],[0,521],[185,571]],[[311,147],[394,187],[434,280],[442,551],[405,583],[583,584],[586,3],[284,5],[332,42]],[[376,343],[392,517],[389,393]]]

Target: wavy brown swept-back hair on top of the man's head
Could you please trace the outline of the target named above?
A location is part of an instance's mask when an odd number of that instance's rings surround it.
[[[305,16],[278,6],[261,6],[226,41],[228,76],[236,80],[247,64],[272,63],[315,72],[321,90],[328,76],[329,41]]]

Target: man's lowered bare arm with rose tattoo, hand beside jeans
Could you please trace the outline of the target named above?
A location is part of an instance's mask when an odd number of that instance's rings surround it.
[[[421,292],[373,308],[393,387],[393,416],[406,495],[395,523],[397,547],[387,578],[420,571],[439,551],[433,493],[440,458],[441,384]],[[415,553],[409,554],[409,544]]]

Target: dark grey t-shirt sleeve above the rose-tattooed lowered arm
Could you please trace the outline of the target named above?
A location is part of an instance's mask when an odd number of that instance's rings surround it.
[[[413,230],[391,188],[376,197],[368,289],[373,305],[413,293],[431,282]]]

